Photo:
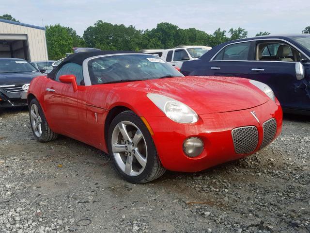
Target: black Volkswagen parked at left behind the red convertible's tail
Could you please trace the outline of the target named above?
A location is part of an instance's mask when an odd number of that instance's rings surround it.
[[[0,58],[0,109],[27,105],[31,80],[42,75],[24,59]]]

